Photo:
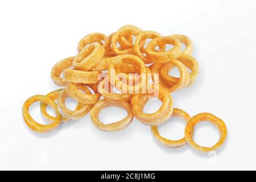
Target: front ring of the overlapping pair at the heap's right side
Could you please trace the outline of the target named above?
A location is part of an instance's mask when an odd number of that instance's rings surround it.
[[[181,63],[181,61],[178,61],[178,60],[171,60],[168,63],[164,63],[164,64],[154,64],[151,67],[152,73],[159,73],[161,67],[170,66],[172,68],[173,65],[175,65],[180,71],[180,78],[178,82],[176,82],[172,86],[169,86],[166,84],[166,82],[164,82],[165,77],[159,78],[159,86],[162,86],[163,89],[167,90],[168,92],[175,92],[177,90],[185,88],[188,85],[189,83],[188,69],[185,67],[183,63]],[[152,79],[154,80],[154,77],[152,77]]]

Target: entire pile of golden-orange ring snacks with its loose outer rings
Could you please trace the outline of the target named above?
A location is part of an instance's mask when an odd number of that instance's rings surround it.
[[[151,41],[146,45],[148,39]],[[181,43],[186,46],[184,51],[181,49]],[[167,44],[171,44],[173,48],[166,50]],[[86,35],[78,44],[78,52],[77,56],[61,60],[52,68],[52,80],[56,85],[65,88],[45,96],[32,96],[24,102],[23,118],[32,130],[45,133],[61,123],[82,118],[90,111],[94,126],[103,131],[125,129],[135,117],[138,121],[151,126],[154,137],[171,148],[189,143],[199,151],[209,152],[224,143],[227,130],[220,118],[210,113],[200,113],[191,117],[185,111],[173,108],[171,93],[191,86],[199,71],[197,61],[191,56],[192,42],[187,36],[161,36],[154,31],[142,31],[138,27],[126,25],[109,36],[101,33]],[[179,69],[180,77],[168,75],[175,67]],[[108,72],[102,73],[103,71]],[[62,73],[63,77],[60,77]],[[122,79],[117,75],[121,75]],[[154,84],[149,84],[150,77]],[[121,93],[113,92],[114,88]],[[158,94],[148,92],[149,88],[154,88]],[[104,99],[100,100],[101,96]],[[68,97],[78,101],[75,110],[69,110],[65,106]],[[143,113],[143,107],[151,97],[158,97],[162,101],[162,106],[155,113]],[[28,112],[30,105],[37,101],[41,102],[41,112],[50,122],[49,125],[36,122]],[[55,117],[47,113],[48,105],[55,109]],[[98,115],[102,109],[113,106],[125,109],[127,117],[105,125]],[[170,117],[181,117],[187,122],[184,138],[170,140],[159,135],[158,125]],[[193,141],[193,127],[201,121],[209,121],[220,130],[220,140],[212,147],[199,146]]]

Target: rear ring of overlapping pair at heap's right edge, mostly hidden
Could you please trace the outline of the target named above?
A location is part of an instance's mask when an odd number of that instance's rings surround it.
[[[191,70],[191,73],[189,73],[189,83],[186,87],[191,86],[193,84],[193,82],[195,82],[195,79],[199,72],[199,66],[197,64],[197,61],[192,56],[185,55],[185,54],[181,54],[177,58],[177,60],[180,61],[181,63],[183,63],[185,65],[185,67],[187,67]],[[168,75],[168,73],[170,72],[170,70],[172,68],[174,68],[174,67],[171,64],[167,64],[167,65],[161,67],[160,73],[159,73],[160,77],[163,78],[164,82],[166,82],[166,84],[168,86],[173,86],[180,79],[180,78]]]

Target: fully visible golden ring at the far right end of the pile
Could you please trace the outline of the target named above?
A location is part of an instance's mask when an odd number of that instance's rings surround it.
[[[199,146],[198,144],[196,144],[196,142],[193,140],[193,138],[191,136],[193,127],[195,125],[197,125],[197,123],[202,122],[202,121],[209,121],[209,122],[213,123],[213,125],[217,126],[218,130],[220,130],[220,139],[212,147]],[[210,114],[210,113],[199,113],[199,114],[194,115],[191,118],[190,122],[187,123],[187,126],[185,127],[185,138],[187,139],[188,144],[190,146],[192,146],[193,148],[195,148],[196,150],[199,150],[201,152],[210,152],[210,151],[217,150],[217,148],[220,147],[224,143],[224,141],[226,139],[226,133],[227,133],[227,129],[226,129],[225,123],[220,118],[217,118],[215,115]]]

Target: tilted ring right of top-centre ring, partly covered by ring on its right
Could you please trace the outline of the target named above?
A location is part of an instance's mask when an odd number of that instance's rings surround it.
[[[143,31],[141,33],[139,33],[139,35],[137,36],[137,38],[135,39],[135,43],[134,43],[134,53],[135,55],[137,55],[138,57],[140,57],[145,64],[150,64],[152,63],[151,60],[147,59],[146,56],[143,55],[143,52],[146,52],[146,50],[141,50],[141,46],[139,46],[141,44],[141,42],[143,40],[146,39],[154,39],[154,38],[158,38],[161,35],[158,34],[158,32],[154,32],[154,31]],[[161,45],[159,46],[159,51],[164,51],[166,48],[165,45]]]

